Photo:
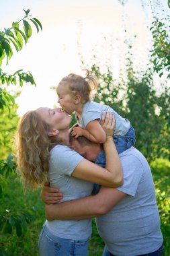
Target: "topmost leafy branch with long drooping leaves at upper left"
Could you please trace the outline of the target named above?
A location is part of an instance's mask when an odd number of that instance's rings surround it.
[[[7,63],[11,59],[13,55],[12,46],[14,46],[17,52],[21,51],[24,43],[26,44],[32,36],[32,27],[29,22],[32,22],[36,26],[37,32],[40,29],[42,30],[42,24],[39,20],[37,18],[31,18],[32,16],[29,15],[30,10],[25,11],[25,13],[26,16],[22,20],[13,22],[11,28],[5,28],[4,31],[0,32],[0,67],[5,57]]]

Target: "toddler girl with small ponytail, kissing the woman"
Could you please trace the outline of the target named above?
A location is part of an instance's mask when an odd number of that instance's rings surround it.
[[[114,142],[120,154],[134,145],[134,129],[128,119],[118,115],[110,106],[91,101],[91,94],[94,91],[97,91],[97,78],[89,75],[89,72],[85,78],[71,73],[63,77],[56,88],[60,106],[69,114],[75,113],[79,124],[79,127],[73,128],[71,132],[75,138],[85,136],[95,143],[103,143],[106,135],[99,124],[101,114],[107,110],[112,112],[116,120]]]

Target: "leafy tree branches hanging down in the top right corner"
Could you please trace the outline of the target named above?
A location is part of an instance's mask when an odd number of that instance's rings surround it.
[[[128,0],[118,0],[122,5],[126,5]],[[151,22],[150,30],[153,36],[153,47],[151,52],[151,62],[153,70],[159,73],[161,77],[167,71],[167,78],[170,78],[170,16],[167,14],[160,0],[142,1],[141,5],[151,7],[153,13],[153,22]],[[170,0],[167,0],[167,5],[170,8]]]

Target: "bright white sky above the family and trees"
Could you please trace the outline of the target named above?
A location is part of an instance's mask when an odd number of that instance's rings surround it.
[[[167,0],[161,2],[167,6]],[[124,6],[118,0],[0,0],[0,6],[0,30],[23,18],[23,9],[30,9],[32,17],[38,18],[43,27],[38,34],[35,30],[28,44],[13,55],[7,66],[3,65],[8,73],[18,69],[30,71],[36,80],[36,88],[26,84],[17,100],[19,115],[39,106],[53,107],[57,97],[50,88],[71,72],[81,74],[81,68],[90,67],[91,63],[102,63],[103,70],[110,63],[114,77],[118,77],[127,37],[136,49],[138,65],[147,61],[151,34],[146,26],[151,9],[142,8],[141,0],[128,0]],[[128,31],[126,37],[123,28]]]

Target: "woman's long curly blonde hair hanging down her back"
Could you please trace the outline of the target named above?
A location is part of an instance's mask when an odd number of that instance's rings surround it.
[[[35,189],[46,179],[51,146],[49,129],[36,110],[28,111],[19,121],[15,136],[17,172],[26,189]]]

